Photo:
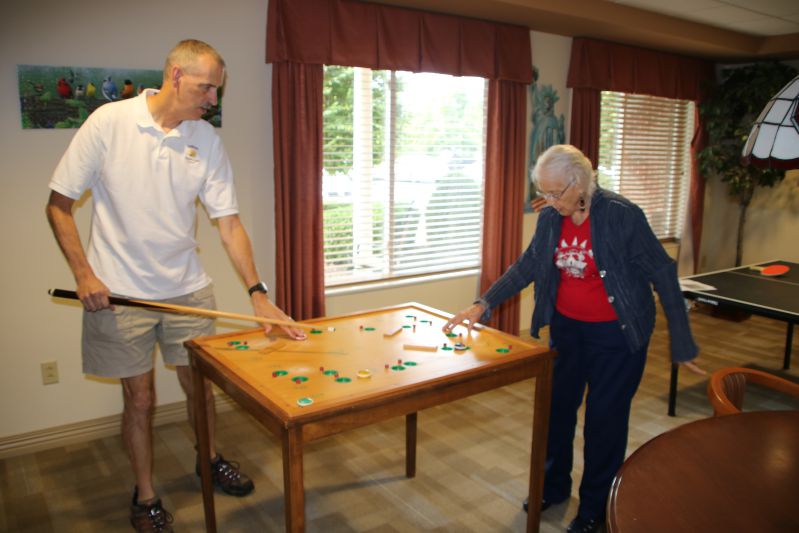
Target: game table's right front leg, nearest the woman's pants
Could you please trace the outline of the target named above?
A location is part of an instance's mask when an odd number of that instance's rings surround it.
[[[546,362],[541,374],[535,378],[534,401],[527,533],[537,533],[541,522],[541,498],[544,497],[544,465],[547,458],[549,410],[552,402],[552,359]]]

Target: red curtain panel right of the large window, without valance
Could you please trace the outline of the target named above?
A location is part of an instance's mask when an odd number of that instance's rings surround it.
[[[481,293],[519,257],[522,246],[526,106],[526,85],[489,82]],[[488,325],[518,335],[520,311],[517,294],[494,310]]]

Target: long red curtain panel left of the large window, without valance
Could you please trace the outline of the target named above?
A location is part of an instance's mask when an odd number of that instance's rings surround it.
[[[321,65],[274,65],[272,123],[276,302],[296,320],[324,316]]]

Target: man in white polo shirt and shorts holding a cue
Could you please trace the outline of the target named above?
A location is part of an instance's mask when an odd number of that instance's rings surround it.
[[[84,306],[84,372],[122,382],[122,436],[136,479],[131,524],[138,531],[172,531],[172,517],[152,480],[155,343],[165,362],[175,365],[193,423],[183,342],[212,334],[213,320],[114,307],[109,296],[215,307],[194,239],[199,198],[250,287],[255,314],[290,320],[269,300],[260,281],[239,220],[230,162],[214,128],[201,119],[216,104],[224,78],[225,63],[216,50],[201,41],[181,41],[166,59],[162,89],[98,108],[75,134],[50,181],[47,217]],[[72,208],[88,189],[93,211],[84,252]],[[295,339],[305,338],[298,328],[285,330]],[[213,396],[207,390],[212,415]],[[215,485],[236,496],[249,494],[252,481],[235,462],[216,453],[211,422]]]

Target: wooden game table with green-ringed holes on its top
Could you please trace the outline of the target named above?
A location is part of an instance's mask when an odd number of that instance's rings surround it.
[[[488,327],[466,338],[451,317],[408,303],[308,321],[306,341],[262,329],[186,342],[195,386],[198,449],[208,457],[208,378],[282,442],[286,530],[305,529],[303,446],[306,442],[405,416],[405,474],[416,473],[417,412],[535,378],[527,531],[538,531],[553,353]],[[479,329],[478,329],[479,328]],[[459,344],[459,346],[455,346]],[[208,461],[201,461],[206,530],[216,531]]]

